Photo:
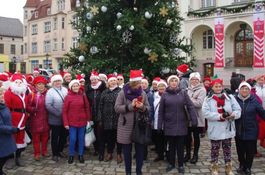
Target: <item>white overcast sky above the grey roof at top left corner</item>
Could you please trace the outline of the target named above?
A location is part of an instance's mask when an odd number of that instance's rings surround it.
[[[23,7],[26,2],[27,0],[0,0],[0,16],[18,18],[23,23]]]

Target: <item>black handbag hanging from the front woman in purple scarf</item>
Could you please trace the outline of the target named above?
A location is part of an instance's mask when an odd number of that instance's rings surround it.
[[[149,121],[149,112],[139,112],[136,116],[134,112],[134,125],[131,133],[131,139],[143,145],[148,145],[152,142],[152,127]]]

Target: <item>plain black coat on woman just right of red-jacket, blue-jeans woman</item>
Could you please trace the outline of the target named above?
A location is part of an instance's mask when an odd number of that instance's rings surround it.
[[[99,106],[100,96],[102,92],[106,89],[106,83],[102,80],[99,81],[101,81],[101,85],[97,89],[93,89],[90,83],[88,83],[85,87],[86,97],[90,105],[91,120],[94,122],[99,121],[98,106]]]

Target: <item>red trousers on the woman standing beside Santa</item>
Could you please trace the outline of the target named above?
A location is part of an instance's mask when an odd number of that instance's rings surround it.
[[[31,135],[32,135],[33,148],[34,148],[34,156],[40,155],[40,139],[42,143],[41,152],[42,154],[46,154],[47,144],[49,139],[49,131],[31,133]]]

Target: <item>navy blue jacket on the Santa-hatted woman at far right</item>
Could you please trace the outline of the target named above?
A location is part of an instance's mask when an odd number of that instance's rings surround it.
[[[265,120],[264,108],[252,93],[244,102],[237,95],[236,100],[242,109],[241,117],[236,120],[236,137],[242,140],[257,140],[259,125],[256,114]]]

